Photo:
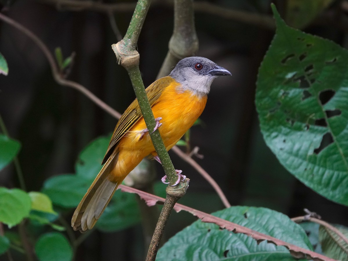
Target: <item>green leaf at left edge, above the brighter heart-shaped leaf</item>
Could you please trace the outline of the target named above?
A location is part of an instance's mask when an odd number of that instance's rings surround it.
[[[21,148],[21,143],[0,134],[0,169],[9,164]]]

